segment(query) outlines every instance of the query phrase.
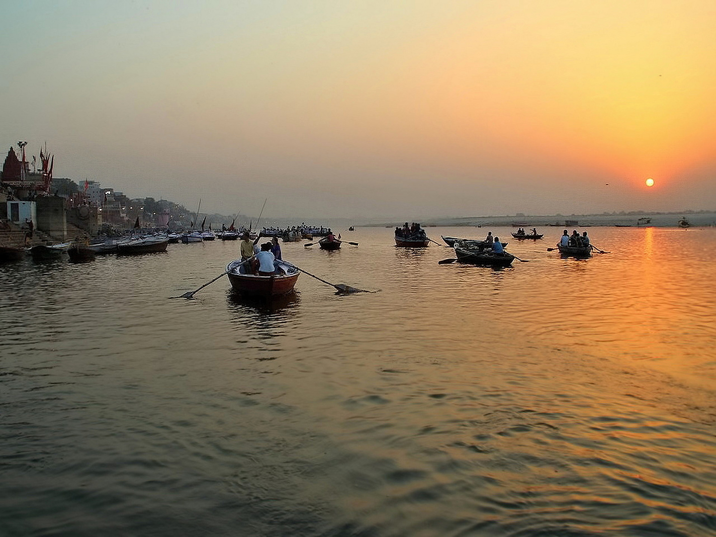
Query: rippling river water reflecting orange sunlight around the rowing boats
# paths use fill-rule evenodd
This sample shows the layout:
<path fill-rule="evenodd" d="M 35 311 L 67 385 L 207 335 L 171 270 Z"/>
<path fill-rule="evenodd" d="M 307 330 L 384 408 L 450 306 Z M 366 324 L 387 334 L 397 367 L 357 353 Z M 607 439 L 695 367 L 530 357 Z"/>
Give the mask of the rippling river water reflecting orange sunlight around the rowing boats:
<path fill-rule="evenodd" d="M 0 266 L 0 535 L 716 535 L 716 229 L 541 231 L 282 243 L 375 292 L 273 304 L 170 299 L 236 242 Z"/>

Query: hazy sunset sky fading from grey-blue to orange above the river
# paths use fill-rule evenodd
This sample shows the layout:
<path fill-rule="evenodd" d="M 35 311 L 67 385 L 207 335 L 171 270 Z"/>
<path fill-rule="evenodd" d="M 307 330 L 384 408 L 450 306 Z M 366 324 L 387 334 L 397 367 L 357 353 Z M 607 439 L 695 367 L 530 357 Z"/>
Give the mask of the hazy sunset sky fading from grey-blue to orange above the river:
<path fill-rule="evenodd" d="M 2 13 L 3 158 L 47 142 L 77 183 L 274 218 L 716 209 L 714 0 Z"/>

